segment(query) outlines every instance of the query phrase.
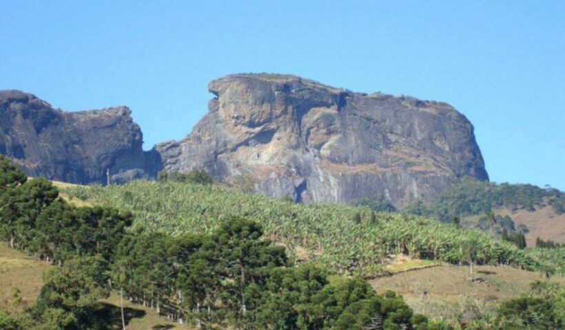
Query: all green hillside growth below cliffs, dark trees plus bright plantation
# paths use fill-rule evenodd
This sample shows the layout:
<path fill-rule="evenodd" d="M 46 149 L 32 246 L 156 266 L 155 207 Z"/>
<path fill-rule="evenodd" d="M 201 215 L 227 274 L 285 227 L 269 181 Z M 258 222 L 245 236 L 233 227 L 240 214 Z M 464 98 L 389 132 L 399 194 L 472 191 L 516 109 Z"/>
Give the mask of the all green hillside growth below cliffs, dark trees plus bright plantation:
<path fill-rule="evenodd" d="M 433 219 L 172 181 L 68 188 L 68 203 L 50 181 L 28 180 L 5 158 L 0 187 L 1 239 L 55 265 L 30 309 L 0 311 L 0 329 L 120 329 L 101 303 L 111 292 L 205 329 L 558 329 L 564 322 L 562 288 L 549 283 L 460 323 L 414 314 L 401 296 L 377 294 L 362 276 L 330 276 L 367 275 L 400 254 L 466 263 L 471 277 L 477 263 L 546 278 L 556 272 L 551 258 Z M 94 206 L 74 206 L 79 197 Z"/>

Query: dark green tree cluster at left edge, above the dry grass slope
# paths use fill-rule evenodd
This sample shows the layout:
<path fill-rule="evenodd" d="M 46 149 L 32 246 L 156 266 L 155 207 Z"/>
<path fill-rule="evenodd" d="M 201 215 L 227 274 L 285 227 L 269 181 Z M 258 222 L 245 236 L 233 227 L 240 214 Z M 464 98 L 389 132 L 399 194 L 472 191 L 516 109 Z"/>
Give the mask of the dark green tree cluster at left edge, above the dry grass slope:
<path fill-rule="evenodd" d="M 114 208 L 70 206 L 45 179 L 24 176 L 0 187 L 0 239 L 38 259 L 101 254 L 110 260 L 131 223 L 131 214 Z"/>

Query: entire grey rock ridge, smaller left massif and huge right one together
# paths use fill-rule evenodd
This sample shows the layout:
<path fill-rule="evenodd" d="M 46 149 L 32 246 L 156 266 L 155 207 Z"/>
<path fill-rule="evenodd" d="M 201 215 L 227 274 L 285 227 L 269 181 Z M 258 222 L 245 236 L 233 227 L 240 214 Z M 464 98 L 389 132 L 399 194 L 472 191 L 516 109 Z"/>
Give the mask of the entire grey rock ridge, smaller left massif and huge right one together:
<path fill-rule="evenodd" d="M 207 170 L 271 197 L 394 203 L 435 197 L 456 177 L 487 180 L 473 126 L 449 104 L 361 94 L 296 76 L 238 74 L 185 139 L 142 149 L 127 107 L 68 113 L 0 91 L 0 153 L 30 176 L 88 184 Z"/>

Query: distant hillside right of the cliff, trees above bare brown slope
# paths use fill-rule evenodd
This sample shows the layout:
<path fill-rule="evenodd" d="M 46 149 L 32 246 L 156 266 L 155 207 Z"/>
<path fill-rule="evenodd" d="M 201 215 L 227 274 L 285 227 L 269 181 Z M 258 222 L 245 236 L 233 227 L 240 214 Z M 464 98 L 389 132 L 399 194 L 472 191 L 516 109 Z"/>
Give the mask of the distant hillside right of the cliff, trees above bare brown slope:
<path fill-rule="evenodd" d="M 387 199 L 357 201 L 373 209 L 387 208 Z M 458 222 L 502 237 L 524 236 L 529 247 L 540 239 L 565 243 L 565 193 L 531 184 L 495 184 L 466 178 L 453 182 L 437 198 L 413 201 L 400 210 Z"/>

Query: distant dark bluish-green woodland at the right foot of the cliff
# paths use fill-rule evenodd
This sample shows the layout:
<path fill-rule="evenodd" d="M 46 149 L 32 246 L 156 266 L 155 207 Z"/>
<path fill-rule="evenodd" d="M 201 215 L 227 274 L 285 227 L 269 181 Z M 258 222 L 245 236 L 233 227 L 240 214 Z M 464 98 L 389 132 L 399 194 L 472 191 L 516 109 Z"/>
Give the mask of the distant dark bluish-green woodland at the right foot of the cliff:
<path fill-rule="evenodd" d="M 403 210 L 448 222 L 454 214 L 478 215 L 500 207 L 535 210 L 535 206 L 546 204 L 553 206 L 558 214 L 565 212 L 565 193 L 531 184 L 495 184 L 463 178 L 454 181 L 435 199 L 413 201 Z"/>

